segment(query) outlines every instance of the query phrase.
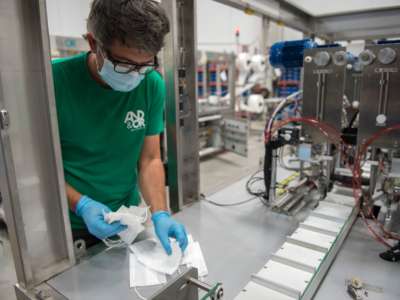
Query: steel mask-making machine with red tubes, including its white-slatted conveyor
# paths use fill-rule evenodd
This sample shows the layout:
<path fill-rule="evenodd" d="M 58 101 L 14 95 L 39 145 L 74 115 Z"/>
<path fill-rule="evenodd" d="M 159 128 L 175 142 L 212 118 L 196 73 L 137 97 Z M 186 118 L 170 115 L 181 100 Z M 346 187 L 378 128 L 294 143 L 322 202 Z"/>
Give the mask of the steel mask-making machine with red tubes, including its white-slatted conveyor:
<path fill-rule="evenodd" d="M 310 216 L 266 263 L 266 270 L 252 276 L 251 289 L 258 284 L 295 299 L 311 299 L 315 278 L 325 276 L 358 214 L 372 238 L 388 248 L 380 257 L 400 260 L 399 50 L 395 41 L 367 44 L 358 60 L 337 44 L 298 51 L 303 52 L 303 91 L 286 97 L 266 124 L 262 197 L 277 212 L 296 215 L 307 208 Z M 298 114 L 277 121 L 278 113 L 293 103 L 299 106 Z M 291 148 L 289 163 L 284 162 L 289 155 L 282 151 L 286 146 Z M 278 162 L 299 175 L 289 184 L 278 182 Z M 332 221 L 329 226 L 327 220 Z M 336 232 L 335 226 L 340 228 Z M 334 240 L 324 246 L 323 240 L 332 236 Z M 303 258 L 285 250 L 293 244 L 299 252 L 324 253 L 310 270 L 313 280 L 301 273 Z M 284 283 L 284 270 L 286 276 L 307 284 Z"/>

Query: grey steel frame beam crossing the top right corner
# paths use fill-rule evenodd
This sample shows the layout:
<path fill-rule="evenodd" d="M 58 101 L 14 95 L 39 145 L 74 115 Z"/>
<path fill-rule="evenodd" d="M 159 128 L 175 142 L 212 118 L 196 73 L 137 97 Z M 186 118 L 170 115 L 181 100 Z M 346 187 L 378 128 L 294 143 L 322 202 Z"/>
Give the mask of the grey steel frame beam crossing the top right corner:
<path fill-rule="evenodd" d="M 214 0 L 329 40 L 400 37 L 400 6 L 313 17 L 285 0 Z"/>

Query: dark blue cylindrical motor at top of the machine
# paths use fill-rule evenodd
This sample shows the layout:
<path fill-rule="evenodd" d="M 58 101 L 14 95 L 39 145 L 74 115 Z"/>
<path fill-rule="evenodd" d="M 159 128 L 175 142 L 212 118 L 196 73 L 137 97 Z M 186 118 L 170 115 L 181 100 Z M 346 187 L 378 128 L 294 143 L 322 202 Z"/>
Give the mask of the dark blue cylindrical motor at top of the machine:
<path fill-rule="evenodd" d="M 269 62 L 275 68 L 299 68 L 303 66 L 304 50 L 315 47 L 311 39 L 278 42 L 269 51 Z"/>

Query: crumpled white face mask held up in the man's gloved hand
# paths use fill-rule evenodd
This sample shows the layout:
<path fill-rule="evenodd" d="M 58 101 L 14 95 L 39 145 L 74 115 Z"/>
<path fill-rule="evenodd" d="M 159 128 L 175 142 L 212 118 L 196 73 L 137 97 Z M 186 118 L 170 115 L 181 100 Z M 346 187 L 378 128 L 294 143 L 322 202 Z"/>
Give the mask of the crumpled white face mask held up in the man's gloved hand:
<path fill-rule="evenodd" d="M 148 211 L 148 207 L 130 206 L 127 208 L 126 206 L 121 206 L 116 212 L 105 214 L 104 220 L 108 224 L 120 221 L 121 224 L 128 226 L 128 228 L 118 234 L 121 240 L 105 239 L 103 242 L 109 247 L 132 244 L 138 234 L 145 229 L 143 223 L 148 219 Z"/>

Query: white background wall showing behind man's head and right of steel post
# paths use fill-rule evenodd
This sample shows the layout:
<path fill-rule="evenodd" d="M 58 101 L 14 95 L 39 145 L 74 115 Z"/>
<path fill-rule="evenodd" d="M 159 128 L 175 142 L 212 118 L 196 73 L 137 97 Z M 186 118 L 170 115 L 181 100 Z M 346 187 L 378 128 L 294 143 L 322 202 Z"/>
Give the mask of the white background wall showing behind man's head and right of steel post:
<path fill-rule="evenodd" d="M 81 37 L 86 33 L 86 19 L 91 0 L 47 0 L 50 35 Z M 261 18 L 219 4 L 213 0 L 197 1 L 198 47 L 200 50 L 236 51 L 236 28 L 240 43 L 260 50 Z M 301 39 L 298 31 L 271 23 L 269 43 L 286 39 Z"/>

